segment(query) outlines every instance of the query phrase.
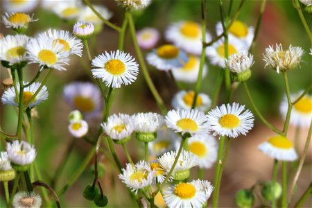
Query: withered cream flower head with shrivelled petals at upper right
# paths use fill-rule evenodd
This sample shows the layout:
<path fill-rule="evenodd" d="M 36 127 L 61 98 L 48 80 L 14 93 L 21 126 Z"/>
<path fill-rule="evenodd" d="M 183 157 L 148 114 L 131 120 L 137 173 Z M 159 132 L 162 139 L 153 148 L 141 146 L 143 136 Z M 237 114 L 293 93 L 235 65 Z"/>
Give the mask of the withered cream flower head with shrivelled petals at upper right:
<path fill-rule="evenodd" d="M 300 47 L 289 46 L 289 49 L 284 51 L 281 44 L 268 46 L 266 53 L 263 54 L 263 60 L 266 62 L 266 67 L 269 66 L 277 73 L 279 71 L 286 72 L 295 69 L 300 64 L 304 51 Z"/>

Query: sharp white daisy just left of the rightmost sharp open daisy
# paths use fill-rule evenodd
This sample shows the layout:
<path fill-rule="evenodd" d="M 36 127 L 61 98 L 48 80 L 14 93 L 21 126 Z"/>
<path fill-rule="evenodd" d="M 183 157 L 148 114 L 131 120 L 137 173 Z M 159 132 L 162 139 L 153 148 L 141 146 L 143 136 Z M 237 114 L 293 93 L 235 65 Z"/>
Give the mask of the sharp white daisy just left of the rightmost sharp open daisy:
<path fill-rule="evenodd" d="M 207 135 L 210 129 L 207 117 L 198 110 L 170 110 L 165 121 L 168 128 L 182 135 Z"/>

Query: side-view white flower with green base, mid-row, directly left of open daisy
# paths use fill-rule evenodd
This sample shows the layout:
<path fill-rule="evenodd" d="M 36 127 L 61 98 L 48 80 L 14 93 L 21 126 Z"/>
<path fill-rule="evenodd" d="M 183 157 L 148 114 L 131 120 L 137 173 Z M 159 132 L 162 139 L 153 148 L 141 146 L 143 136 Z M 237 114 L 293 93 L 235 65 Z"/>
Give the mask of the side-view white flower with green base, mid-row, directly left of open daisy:
<path fill-rule="evenodd" d="M 164 125 L 164 116 L 152 112 L 135 114 L 132 119 L 137 139 L 144 142 L 156 139 L 157 130 Z"/>

